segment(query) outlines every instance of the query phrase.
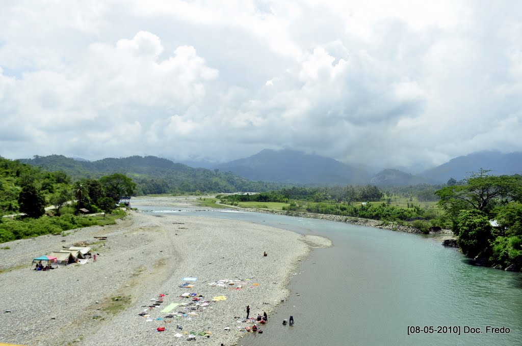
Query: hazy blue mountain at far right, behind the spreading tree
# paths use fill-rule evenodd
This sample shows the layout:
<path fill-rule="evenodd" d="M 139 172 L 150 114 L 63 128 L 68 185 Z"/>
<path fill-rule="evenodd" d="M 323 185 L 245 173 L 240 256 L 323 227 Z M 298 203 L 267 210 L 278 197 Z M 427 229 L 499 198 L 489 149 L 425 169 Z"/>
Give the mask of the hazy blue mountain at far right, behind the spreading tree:
<path fill-rule="evenodd" d="M 470 172 L 479 169 L 492 170 L 493 175 L 522 174 L 522 153 L 502 154 L 497 151 L 483 151 L 455 157 L 449 162 L 423 171 L 420 176 L 433 183 L 445 183 L 449 178 L 462 180 Z"/>

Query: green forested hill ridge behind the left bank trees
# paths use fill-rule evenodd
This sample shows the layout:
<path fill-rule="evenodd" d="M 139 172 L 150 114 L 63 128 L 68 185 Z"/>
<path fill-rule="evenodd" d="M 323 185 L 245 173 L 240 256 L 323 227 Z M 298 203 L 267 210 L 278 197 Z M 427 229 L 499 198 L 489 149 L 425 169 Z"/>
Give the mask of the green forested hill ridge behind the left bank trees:
<path fill-rule="evenodd" d="M 74 180 L 122 173 L 137 183 L 138 194 L 198 190 L 201 192 L 268 191 L 282 187 L 282 184 L 277 183 L 250 181 L 231 172 L 192 168 L 156 156 L 104 158 L 88 162 L 63 155 L 50 155 L 19 161 L 45 170 L 63 170 Z"/>

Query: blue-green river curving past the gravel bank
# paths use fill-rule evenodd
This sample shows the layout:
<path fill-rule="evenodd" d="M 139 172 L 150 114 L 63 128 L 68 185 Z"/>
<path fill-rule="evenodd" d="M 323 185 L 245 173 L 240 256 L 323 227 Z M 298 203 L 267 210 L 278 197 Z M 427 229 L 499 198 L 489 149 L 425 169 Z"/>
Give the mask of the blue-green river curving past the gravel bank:
<path fill-rule="evenodd" d="M 522 275 L 472 266 L 436 236 L 222 209 L 133 206 L 333 241 L 294 273 L 292 293 L 270 315 L 264 333 L 239 345 L 522 345 Z M 295 325 L 283 326 L 290 315 Z"/>

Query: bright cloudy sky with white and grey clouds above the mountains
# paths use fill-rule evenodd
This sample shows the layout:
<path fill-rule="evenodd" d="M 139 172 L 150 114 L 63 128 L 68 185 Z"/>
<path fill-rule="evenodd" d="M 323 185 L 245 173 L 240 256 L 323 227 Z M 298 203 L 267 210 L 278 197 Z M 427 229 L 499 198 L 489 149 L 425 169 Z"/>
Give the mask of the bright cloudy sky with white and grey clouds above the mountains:
<path fill-rule="evenodd" d="M 0 156 L 522 151 L 522 2 L 3 0 Z"/>

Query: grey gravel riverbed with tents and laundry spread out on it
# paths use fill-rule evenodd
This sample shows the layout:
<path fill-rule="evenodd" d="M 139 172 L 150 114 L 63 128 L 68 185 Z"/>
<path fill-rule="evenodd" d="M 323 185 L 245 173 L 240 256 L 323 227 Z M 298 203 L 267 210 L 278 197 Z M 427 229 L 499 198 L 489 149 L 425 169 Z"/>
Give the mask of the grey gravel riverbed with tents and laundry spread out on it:
<path fill-rule="evenodd" d="M 31 270 L 33 257 L 79 242 L 99 254 L 97 262 Z M 270 323 L 298 262 L 331 242 L 242 221 L 132 211 L 117 225 L 3 245 L 9 249 L 0 250 L 0 268 L 8 269 L 0 274 L 0 342 L 175 345 L 195 338 L 192 343 L 233 345 L 252 325 L 243 322 L 246 305 L 250 316 L 266 311 Z M 179 287 L 184 282 L 194 287 Z M 180 298 L 183 293 L 200 300 Z M 163 301 L 150 308 L 160 294 Z M 213 300 L 220 296 L 226 300 Z M 165 318 L 161 310 L 172 303 L 182 305 Z"/>

